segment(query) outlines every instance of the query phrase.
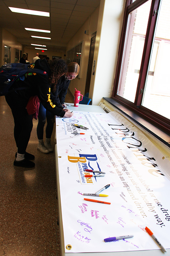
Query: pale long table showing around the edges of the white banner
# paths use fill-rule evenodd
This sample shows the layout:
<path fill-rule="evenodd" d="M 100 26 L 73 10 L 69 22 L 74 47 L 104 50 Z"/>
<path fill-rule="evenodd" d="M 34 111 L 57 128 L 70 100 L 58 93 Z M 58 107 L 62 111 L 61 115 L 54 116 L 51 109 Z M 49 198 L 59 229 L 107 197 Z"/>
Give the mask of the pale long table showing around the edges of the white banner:
<path fill-rule="evenodd" d="M 73 104 L 71 104 L 71 106 L 68 106 L 68 108 L 70 110 L 79 111 L 79 112 L 85 111 L 85 112 L 94 112 L 94 113 L 105 113 L 102 108 L 100 108 L 99 106 L 93 106 L 93 105 L 90 106 L 90 105 L 82 105 L 81 104 L 78 107 L 73 107 Z M 57 131 L 57 129 L 56 129 L 56 131 Z M 67 143 L 67 142 L 65 140 L 63 140 L 63 143 Z M 59 175 L 60 174 L 59 174 L 59 163 L 58 163 L 59 158 L 58 157 L 61 157 L 61 156 L 58 155 L 57 144 L 56 144 L 55 145 L 56 182 L 57 182 L 57 197 L 58 197 L 58 211 L 59 211 L 60 247 L 61 247 L 61 255 L 62 256 L 66 256 L 66 254 L 68 254 L 68 253 L 70 255 L 74 254 L 74 256 L 85 256 L 85 255 L 87 255 L 87 253 L 90 256 L 95 256 L 95 255 L 110 256 L 110 255 L 113 255 L 113 253 L 114 253 L 115 256 L 129 256 L 129 253 L 132 256 L 136 256 L 136 255 L 139 255 L 139 256 L 143 256 L 143 255 L 145 255 L 145 256 L 150 256 L 150 255 L 159 256 L 159 255 L 162 255 L 162 253 L 163 253 L 162 250 L 158 250 L 158 249 L 155 249 L 155 250 L 141 250 L 141 251 L 133 250 L 133 251 L 130 251 L 130 252 L 129 251 L 123 251 L 123 252 L 76 252 L 76 253 L 72 253 L 71 250 L 70 251 L 68 250 L 68 253 L 65 252 L 63 220 L 62 220 L 61 189 L 60 189 L 61 184 L 59 182 L 59 180 L 60 180 Z M 98 179 L 101 179 L 101 178 L 98 178 Z M 94 199 L 96 199 L 96 198 L 94 198 Z M 69 227 L 68 227 L 68 229 L 69 229 Z M 128 235 L 128 234 L 123 233 L 122 235 Z M 149 241 L 150 241 L 150 239 L 152 240 L 151 237 L 148 237 L 148 239 L 149 239 Z M 158 237 L 158 239 L 159 239 L 159 237 Z M 106 243 L 106 244 L 108 244 L 108 243 Z M 162 244 L 163 244 L 163 241 L 162 241 Z M 170 255 L 170 249 L 167 249 L 166 255 Z"/>

